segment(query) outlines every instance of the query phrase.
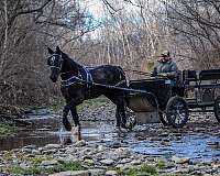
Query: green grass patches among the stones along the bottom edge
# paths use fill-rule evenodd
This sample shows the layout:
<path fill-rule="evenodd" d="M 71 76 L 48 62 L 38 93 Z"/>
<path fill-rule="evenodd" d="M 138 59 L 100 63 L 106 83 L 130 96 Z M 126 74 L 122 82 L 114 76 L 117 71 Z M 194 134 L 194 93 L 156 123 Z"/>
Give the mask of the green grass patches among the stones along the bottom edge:
<path fill-rule="evenodd" d="M 14 160 L 12 157 L 12 153 L 8 153 L 4 155 L 4 160 L 10 161 Z M 52 157 L 48 156 L 42 156 L 42 157 L 25 157 L 25 156 L 20 156 L 19 161 L 25 160 L 26 163 L 29 163 L 28 167 L 21 167 L 19 164 L 12 164 L 8 167 L 0 168 L 2 173 L 8 173 L 10 175 L 48 175 L 53 173 L 58 173 L 58 172 L 66 172 L 66 170 L 85 170 L 89 169 L 88 166 L 85 167 L 84 163 L 80 162 L 55 162 L 53 166 L 50 167 L 43 167 L 43 163 L 45 161 L 47 163 L 53 162 Z M 165 168 L 165 162 L 160 161 L 156 165 L 151 165 L 151 164 L 142 164 L 141 166 L 134 166 L 132 168 L 112 168 L 109 167 L 107 170 L 114 170 L 117 172 L 117 175 L 119 176 L 138 176 L 138 175 L 152 175 L 152 176 L 169 176 L 167 174 L 163 174 L 163 168 Z M 91 167 L 92 168 L 92 167 Z"/>

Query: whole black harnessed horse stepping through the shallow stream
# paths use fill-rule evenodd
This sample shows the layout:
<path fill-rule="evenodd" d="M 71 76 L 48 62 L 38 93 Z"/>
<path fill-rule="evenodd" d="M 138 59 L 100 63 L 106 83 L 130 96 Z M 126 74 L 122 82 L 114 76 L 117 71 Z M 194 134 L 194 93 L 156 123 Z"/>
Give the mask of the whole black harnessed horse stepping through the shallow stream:
<path fill-rule="evenodd" d="M 76 106 L 82 103 L 86 99 L 94 99 L 101 95 L 105 95 L 117 106 L 117 127 L 119 129 L 127 128 L 124 91 L 102 86 L 127 87 L 125 74 L 121 67 L 102 65 L 88 69 L 72 59 L 58 46 L 55 52 L 48 48 L 48 53 L 51 54 L 47 59 L 47 65 L 51 67 L 51 79 L 56 82 L 59 75 L 62 79 L 61 90 L 66 99 L 66 106 L 63 110 L 63 124 L 66 130 L 72 130 L 67 119 L 69 110 L 75 123 L 74 133 L 78 134 L 80 125 Z"/>

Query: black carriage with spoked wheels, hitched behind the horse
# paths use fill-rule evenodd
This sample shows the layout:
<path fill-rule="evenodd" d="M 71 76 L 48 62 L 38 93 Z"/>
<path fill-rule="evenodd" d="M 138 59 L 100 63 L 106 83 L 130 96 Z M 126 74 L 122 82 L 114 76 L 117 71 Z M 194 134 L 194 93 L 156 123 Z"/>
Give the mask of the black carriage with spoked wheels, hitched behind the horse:
<path fill-rule="evenodd" d="M 127 105 L 134 112 L 154 111 L 163 124 L 182 128 L 189 112 L 215 112 L 220 122 L 220 69 L 183 70 L 177 85 L 167 78 L 131 80 Z"/>

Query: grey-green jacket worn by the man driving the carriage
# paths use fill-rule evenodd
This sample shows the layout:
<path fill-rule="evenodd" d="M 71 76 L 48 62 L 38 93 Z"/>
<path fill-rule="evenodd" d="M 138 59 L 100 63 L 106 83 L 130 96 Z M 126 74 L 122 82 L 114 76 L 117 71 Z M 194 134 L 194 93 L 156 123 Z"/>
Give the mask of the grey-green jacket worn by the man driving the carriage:
<path fill-rule="evenodd" d="M 176 63 L 168 61 L 166 63 L 160 62 L 160 64 L 154 68 L 153 76 L 157 74 L 167 74 L 168 78 L 176 78 L 178 75 L 178 68 Z"/>

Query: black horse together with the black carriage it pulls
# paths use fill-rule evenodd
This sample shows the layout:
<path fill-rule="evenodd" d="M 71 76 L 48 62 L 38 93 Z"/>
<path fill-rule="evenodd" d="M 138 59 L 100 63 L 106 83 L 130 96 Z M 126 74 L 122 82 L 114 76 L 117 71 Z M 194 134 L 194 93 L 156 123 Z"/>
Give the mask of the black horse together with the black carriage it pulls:
<path fill-rule="evenodd" d="M 136 114 L 142 113 L 142 119 L 147 118 L 144 114 L 154 112 L 164 124 L 169 123 L 174 128 L 183 127 L 191 110 L 213 111 L 220 122 L 220 97 L 217 96 L 220 88 L 220 69 L 184 70 L 179 74 L 175 87 L 169 79 L 157 77 L 130 80 L 127 85 L 125 73 L 120 66 L 86 68 L 58 46 L 55 52 L 48 48 L 48 53 L 50 77 L 54 82 L 59 75 L 62 79 L 62 94 L 67 102 L 63 110 L 63 123 L 67 130 L 72 130 L 68 112 L 72 112 L 75 127 L 79 129 L 76 106 L 101 95 L 117 106 L 117 127 L 127 128 L 124 106 Z"/>

